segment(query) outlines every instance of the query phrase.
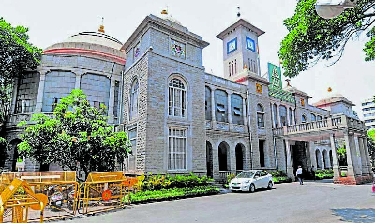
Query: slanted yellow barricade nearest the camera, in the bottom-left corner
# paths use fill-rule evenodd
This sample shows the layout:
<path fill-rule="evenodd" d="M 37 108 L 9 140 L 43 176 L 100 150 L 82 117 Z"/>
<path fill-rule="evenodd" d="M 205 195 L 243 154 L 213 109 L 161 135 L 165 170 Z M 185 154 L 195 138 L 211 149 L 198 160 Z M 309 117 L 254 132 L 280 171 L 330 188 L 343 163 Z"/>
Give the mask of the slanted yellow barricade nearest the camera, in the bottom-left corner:
<path fill-rule="evenodd" d="M 44 207 L 48 198 L 36 194 L 25 180 L 15 178 L 0 195 L 0 223 L 24 223 L 32 211 L 39 212 L 38 222 L 43 222 Z"/>

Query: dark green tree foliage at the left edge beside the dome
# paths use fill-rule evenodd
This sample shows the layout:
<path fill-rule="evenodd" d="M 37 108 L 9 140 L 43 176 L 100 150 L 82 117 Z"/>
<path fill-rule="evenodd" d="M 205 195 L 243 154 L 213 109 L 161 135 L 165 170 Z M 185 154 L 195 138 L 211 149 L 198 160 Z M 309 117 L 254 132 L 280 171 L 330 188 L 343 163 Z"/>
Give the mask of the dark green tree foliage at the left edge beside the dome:
<path fill-rule="evenodd" d="M 25 69 L 36 69 L 42 49 L 28 42 L 28 28 L 12 27 L 0 18 L 0 100 L 7 100 L 6 87 Z"/>

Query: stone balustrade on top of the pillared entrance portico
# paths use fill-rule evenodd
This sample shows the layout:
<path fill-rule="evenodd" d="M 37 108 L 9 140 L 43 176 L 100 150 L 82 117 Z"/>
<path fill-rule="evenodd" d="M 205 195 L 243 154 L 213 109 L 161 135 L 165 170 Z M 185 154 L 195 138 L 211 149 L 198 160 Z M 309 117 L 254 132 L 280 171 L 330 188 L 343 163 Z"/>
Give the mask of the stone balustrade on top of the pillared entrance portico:
<path fill-rule="evenodd" d="M 273 129 L 273 134 L 276 136 L 292 135 L 296 133 L 336 129 L 340 127 L 351 127 L 366 131 L 365 123 L 363 121 L 341 115 L 339 117 L 276 128 Z"/>

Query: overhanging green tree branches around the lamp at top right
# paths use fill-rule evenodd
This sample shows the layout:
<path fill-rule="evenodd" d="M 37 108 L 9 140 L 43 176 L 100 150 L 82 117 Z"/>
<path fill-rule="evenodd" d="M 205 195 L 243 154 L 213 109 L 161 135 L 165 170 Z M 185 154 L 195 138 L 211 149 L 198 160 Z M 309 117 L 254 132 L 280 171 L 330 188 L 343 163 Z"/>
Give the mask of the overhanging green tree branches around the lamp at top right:
<path fill-rule="evenodd" d="M 284 20 L 289 33 L 281 42 L 279 58 L 285 76 L 293 77 L 321 59 L 335 57 L 336 63 L 349 40 L 363 31 L 369 38 L 363 51 L 366 61 L 375 59 L 375 0 L 358 0 L 358 6 L 333 19 L 323 19 L 315 11 L 316 0 L 298 0 L 295 13 Z"/>

